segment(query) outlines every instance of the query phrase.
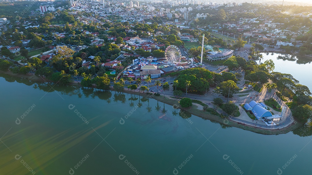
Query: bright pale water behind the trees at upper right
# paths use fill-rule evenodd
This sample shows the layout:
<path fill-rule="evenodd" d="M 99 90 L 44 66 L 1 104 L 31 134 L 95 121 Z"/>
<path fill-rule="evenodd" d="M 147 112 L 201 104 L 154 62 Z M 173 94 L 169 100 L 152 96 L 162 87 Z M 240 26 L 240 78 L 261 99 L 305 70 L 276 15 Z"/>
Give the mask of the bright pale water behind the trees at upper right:
<path fill-rule="evenodd" d="M 289 73 L 293 75 L 300 84 L 303 84 L 312 90 L 312 81 L 310 78 L 307 78 L 312 75 L 312 59 L 297 59 L 297 57 L 289 54 L 278 53 L 269 53 L 268 55 L 262 53 L 262 55 L 264 58 L 261 60 L 262 63 L 268 59 L 272 59 L 275 64 L 275 72 Z M 259 61 L 257 61 L 257 63 L 259 63 Z"/>

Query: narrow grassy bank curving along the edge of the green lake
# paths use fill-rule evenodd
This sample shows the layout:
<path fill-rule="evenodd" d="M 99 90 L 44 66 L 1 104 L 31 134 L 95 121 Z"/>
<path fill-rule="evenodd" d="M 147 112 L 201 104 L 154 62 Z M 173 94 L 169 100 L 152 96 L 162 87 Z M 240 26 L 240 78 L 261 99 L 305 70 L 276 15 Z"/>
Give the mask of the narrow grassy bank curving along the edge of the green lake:
<path fill-rule="evenodd" d="M 30 81 L 37 81 L 37 82 L 50 82 L 51 81 L 47 81 L 44 78 L 41 77 L 37 77 L 35 75 L 21 75 L 21 74 L 14 74 L 12 72 L 2 72 L 0 71 L 0 73 L 6 74 L 6 75 L 10 75 L 13 77 L 20 77 L 20 78 L 27 78 Z M 52 82 L 53 83 L 53 82 Z M 73 86 L 80 86 L 80 84 L 78 83 L 68 83 L 68 85 L 73 85 Z M 80 86 L 81 87 L 81 86 Z M 92 86 L 93 88 L 96 88 L 94 86 Z M 115 91 L 112 87 L 110 87 L 110 91 Z M 171 106 L 177 106 L 175 109 L 181 109 L 183 111 L 187 111 L 189 113 L 191 113 L 194 116 L 206 119 L 206 120 L 210 120 L 212 122 L 218 122 L 221 127 L 236 127 L 236 128 L 240 128 L 243 130 L 248 130 L 251 132 L 255 132 L 258 134 L 263 134 L 263 135 L 278 135 L 278 134 L 286 134 L 292 130 L 295 130 L 297 128 L 299 128 L 300 126 L 302 126 L 302 124 L 298 123 L 298 122 L 293 122 L 292 124 L 288 125 L 287 127 L 283 128 L 283 129 L 264 129 L 264 128 L 258 128 L 258 127 L 254 127 L 254 126 L 250 126 L 250 125 L 245 125 L 245 124 L 240 124 L 239 122 L 236 121 L 232 121 L 229 120 L 228 118 L 222 118 L 220 116 L 215 116 L 212 115 L 211 113 L 207 112 L 207 111 L 202 111 L 202 110 L 198 110 L 198 106 L 193 105 L 190 108 L 182 108 L 180 107 L 178 100 L 173 100 L 170 99 L 168 97 L 163 97 L 162 95 L 160 96 L 153 96 L 150 94 L 146 94 L 146 93 L 142 93 L 142 92 L 138 92 L 138 91 L 130 91 L 125 89 L 124 93 L 128 93 L 128 94 L 134 94 L 134 95 L 140 95 L 142 97 L 147 97 L 147 98 L 153 98 L 159 102 L 163 102 L 166 103 L 168 105 Z"/>

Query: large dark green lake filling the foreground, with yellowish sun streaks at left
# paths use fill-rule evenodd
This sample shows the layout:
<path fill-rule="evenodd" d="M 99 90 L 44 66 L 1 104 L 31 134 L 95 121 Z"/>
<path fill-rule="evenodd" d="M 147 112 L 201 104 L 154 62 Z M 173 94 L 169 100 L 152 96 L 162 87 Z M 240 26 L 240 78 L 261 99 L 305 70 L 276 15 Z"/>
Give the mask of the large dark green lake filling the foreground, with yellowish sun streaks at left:
<path fill-rule="evenodd" d="M 154 99 L 3 74 L 0 90 L 0 174 L 312 171 L 310 128 L 261 135 L 179 112 Z"/>

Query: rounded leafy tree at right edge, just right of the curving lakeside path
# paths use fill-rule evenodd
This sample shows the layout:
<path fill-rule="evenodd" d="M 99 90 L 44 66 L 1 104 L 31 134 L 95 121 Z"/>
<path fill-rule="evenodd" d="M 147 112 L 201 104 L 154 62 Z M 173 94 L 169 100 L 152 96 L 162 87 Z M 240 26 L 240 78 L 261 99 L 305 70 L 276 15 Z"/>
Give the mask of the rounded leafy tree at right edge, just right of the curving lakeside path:
<path fill-rule="evenodd" d="M 309 105 L 300 105 L 293 111 L 293 116 L 301 123 L 306 123 L 312 118 L 312 107 Z"/>

